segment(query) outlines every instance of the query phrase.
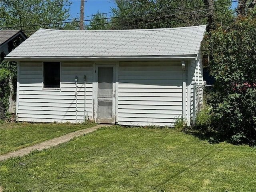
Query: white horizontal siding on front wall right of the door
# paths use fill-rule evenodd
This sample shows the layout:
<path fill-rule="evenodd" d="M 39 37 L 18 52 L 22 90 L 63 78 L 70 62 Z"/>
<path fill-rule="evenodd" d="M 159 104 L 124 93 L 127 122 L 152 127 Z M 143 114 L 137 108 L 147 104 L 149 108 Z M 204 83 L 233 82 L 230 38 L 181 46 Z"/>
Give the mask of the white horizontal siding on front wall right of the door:
<path fill-rule="evenodd" d="M 118 124 L 173 126 L 182 115 L 180 62 L 120 62 Z"/>

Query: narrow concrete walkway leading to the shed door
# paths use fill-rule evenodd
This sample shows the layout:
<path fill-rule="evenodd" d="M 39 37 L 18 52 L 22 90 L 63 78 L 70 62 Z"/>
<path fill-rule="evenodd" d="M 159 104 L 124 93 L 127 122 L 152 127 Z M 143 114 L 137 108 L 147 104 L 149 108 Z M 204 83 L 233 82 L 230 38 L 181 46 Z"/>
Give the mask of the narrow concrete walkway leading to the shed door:
<path fill-rule="evenodd" d="M 57 138 L 53 138 L 53 139 L 44 141 L 42 143 L 35 144 L 33 146 L 29 146 L 29 147 L 22 148 L 20 150 L 14 151 L 14 152 L 3 154 L 3 155 L 0 155 L 0 161 L 8 159 L 10 157 L 24 156 L 24 155 L 29 154 L 30 152 L 32 152 L 34 150 L 39 150 L 40 151 L 40 150 L 43 150 L 43 149 L 47 149 L 47 148 L 50 148 L 52 146 L 56 146 L 56 145 L 64 143 L 64 142 L 68 142 L 70 139 L 72 139 L 74 137 L 78 137 L 80 135 L 84 135 L 84 134 L 93 132 L 94 130 L 96 130 L 100 127 L 106 127 L 106 126 L 111 126 L 111 125 L 101 124 L 101 125 L 86 128 L 86 129 L 83 129 L 83 130 L 78 130 L 78 131 L 71 132 L 71 133 L 68 133 L 66 135 L 57 137 Z M 0 192 L 1 192 L 1 188 L 0 188 Z"/>

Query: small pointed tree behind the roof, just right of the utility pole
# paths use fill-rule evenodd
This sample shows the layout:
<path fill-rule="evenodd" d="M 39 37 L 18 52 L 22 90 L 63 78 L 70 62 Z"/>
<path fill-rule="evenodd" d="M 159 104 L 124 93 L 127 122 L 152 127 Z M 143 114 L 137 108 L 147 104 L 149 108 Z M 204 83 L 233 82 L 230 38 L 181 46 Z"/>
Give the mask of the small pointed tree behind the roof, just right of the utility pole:
<path fill-rule="evenodd" d="M 98 11 L 93 17 L 92 21 L 88 26 L 85 26 L 86 30 L 106 30 L 110 29 L 111 25 L 108 23 L 108 19 L 106 19 L 105 14 L 101 14 Z"/>

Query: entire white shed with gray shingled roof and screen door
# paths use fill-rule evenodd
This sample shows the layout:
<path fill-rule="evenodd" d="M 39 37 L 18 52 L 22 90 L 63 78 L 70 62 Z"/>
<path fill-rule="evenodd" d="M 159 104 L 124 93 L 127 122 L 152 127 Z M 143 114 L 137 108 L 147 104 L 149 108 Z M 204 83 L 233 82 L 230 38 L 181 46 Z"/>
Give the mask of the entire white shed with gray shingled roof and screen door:
<path fill-rule="evenodd" d="M 190 125 L 202 103 L 205 31 L 39 29 L 6 57 L 18 63 L 16 119 Z"/>

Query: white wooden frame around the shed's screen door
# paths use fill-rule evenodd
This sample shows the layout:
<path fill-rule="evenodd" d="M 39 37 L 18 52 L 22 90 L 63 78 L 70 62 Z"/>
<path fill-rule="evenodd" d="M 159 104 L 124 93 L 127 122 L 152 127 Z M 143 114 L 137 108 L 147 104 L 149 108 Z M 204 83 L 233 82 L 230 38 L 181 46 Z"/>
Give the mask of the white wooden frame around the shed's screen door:
<path fill-rule="evenodd" d="M 92 118 L 95 122 L 97 122 L 97 114 L 98 114 L 98 68 L 99 67 L 113 67 L 113 90 L 112 90 L 112 122 L 107 122 L 110 124 L 114 124 L 117 122 L 117 77 L 118 77 L 118 65 L 116 62 L 94 62 L 93 64 L 93 83 L 92 83 L 92 89 L 93 89 L 93 113 Z"/>

